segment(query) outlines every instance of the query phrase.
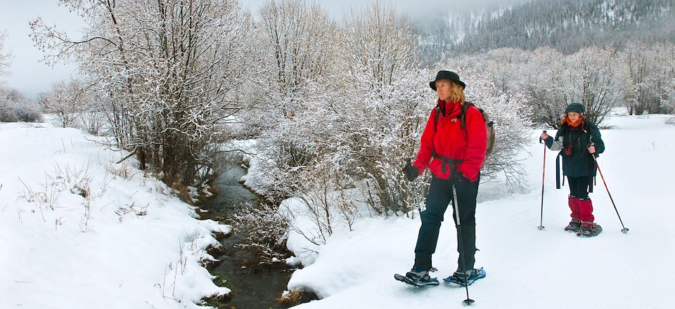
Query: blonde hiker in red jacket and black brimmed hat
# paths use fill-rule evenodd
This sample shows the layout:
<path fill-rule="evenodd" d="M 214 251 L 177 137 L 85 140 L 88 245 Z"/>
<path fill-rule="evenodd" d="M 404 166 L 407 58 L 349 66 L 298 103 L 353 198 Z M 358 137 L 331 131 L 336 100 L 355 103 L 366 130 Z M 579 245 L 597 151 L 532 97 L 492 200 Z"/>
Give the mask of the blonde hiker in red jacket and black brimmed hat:
<path fill-rule="evenodd" d="M 487 149 L 487 127 L 482 113 L 473 105 L 465 112 L 465 127 L 462 128 L 461 113 L 465 104 L 465 84 L 459 75 L 439 71 L 429 86 L 437 91 L 438 100 L 432 110 L 420 141 L 420 150 L 414 164 L 404 167 L 407 178 L 413 181 L 425 169 L 432 173 L 431 185 L 426 198 L 426 209 L 421 212 L 420 227 L 415 247 L 415 263 L 406 277 L 418 282 L 437 280 L 429 276 L 432 270 L 432 254 L 436 251 L 439 229 L 444 213 L 453 202 L 453 186 L 456 189 L 460 214 L 461 234 L 458 232 L 458 268 L 456 280 L 475 280 L 485 273 L 474 268 L 476 240 L 476 197 L 480 181 L 480 169 Z M 453 209 L 453 219 L 456 221 Z M 459 241 L 462 237 L 463 242 Z M 463 243 L 463 247 L 460 246 Z M 451 277 L 453 277 L 451 276 Z M 451 277 L 448 277 L 451 278 Z"/>

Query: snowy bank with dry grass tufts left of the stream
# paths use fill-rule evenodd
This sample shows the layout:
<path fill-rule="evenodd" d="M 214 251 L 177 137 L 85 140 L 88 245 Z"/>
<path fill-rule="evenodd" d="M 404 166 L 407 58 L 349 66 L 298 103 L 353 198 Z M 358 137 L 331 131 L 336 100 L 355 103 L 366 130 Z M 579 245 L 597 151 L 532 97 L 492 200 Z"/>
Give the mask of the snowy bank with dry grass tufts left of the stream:
<path fill-rule="evenodd" d="M 0 124 L 0 308 L 197 308 L 212 231 L 76 129 Z"/>

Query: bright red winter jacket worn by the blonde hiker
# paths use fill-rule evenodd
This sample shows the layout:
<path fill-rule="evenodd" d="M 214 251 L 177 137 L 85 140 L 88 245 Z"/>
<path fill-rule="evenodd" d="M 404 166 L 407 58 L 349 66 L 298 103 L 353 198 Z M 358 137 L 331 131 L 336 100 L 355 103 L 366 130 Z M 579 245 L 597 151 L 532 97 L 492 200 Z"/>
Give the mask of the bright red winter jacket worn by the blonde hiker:
<path fill-rule="evenodd" d="M 487 150 L 487 127 L 483 115 L 476 107 L 470 106 L 466 110 L 466 127 L 462 129 L 459 119 L 461 105 L 448 103 L 446 106 L 443 100 L 438 100 L 438 106 L 440 109 L 434 108 L 427 120 L 427 126 L 422 133 L 420 151 L 413 165 L 419 169 L 420 174 L 428 167 L 436 177 L 448 179 L 450 177 L 448 166 L 442 169 L 442 160 L 432 157 L 435 147 L 436 153 L 442 157 L 463 160 L 457 164 L 457 170 L 474 182 L 478 179 Z M 445 110 L 445 114 L 439 114 L 435 129 L 434 119 L 437 110 Z"/>

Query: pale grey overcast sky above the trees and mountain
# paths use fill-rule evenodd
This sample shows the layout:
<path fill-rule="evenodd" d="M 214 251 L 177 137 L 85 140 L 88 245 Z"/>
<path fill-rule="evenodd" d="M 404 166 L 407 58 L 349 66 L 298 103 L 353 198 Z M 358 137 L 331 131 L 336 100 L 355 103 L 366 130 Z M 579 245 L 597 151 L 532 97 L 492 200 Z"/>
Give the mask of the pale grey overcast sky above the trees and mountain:
<path fill-rule="evenodd" d="M 146 1 L 146 0 L 139 0 Z M 266 0 L 240 0 L 240 3 L 251 11 L 257 11 Z M 369 2 L 366 0 L 317 0 L 335 19 L 342 17 L 342 12 L 349 8 L 360 8 Z M 454 7 L 487 6 L 488 4 L 505 4 L 507 2 L 524 2 L 526 0 L 392 0 L 397 11 L 413 15 L 423 14 L 430 10 Z M 57 64 L 49 67 L 40 63 L 42 53 L 33 46 L 28 37 L 28 22 L 41 17 L 48 25 L 56 24 L 68 32 L 70 37 L 79 38 L 82 21 L 74 13 L 58 6 L 58 0 L 0 0 L 0 31 L 8 34 L 5 45 L 13 53 L 8 77 L 0 77 L 10 86 L 17 88 L 29 97 L 42 91 L 49 91 L 55 81 L 69 79 L 75 74 L 75 65 Z"/>

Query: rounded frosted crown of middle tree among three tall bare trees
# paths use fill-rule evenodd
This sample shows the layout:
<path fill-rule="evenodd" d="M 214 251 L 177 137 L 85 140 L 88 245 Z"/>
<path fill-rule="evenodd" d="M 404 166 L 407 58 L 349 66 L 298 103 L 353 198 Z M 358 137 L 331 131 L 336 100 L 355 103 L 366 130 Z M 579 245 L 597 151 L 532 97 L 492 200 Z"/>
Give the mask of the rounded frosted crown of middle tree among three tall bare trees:
<path fill-rule="evenodd" d="M 331 74 L 337 26 L 314 2 L 268 0 L 255 29 L 264 67 L 260 80 L 274 100 L 269 106 L 278 117 L 292 118 L 307 82 Z"/>

